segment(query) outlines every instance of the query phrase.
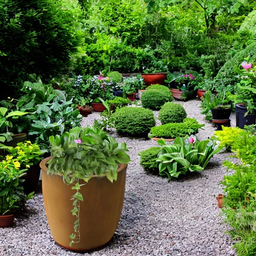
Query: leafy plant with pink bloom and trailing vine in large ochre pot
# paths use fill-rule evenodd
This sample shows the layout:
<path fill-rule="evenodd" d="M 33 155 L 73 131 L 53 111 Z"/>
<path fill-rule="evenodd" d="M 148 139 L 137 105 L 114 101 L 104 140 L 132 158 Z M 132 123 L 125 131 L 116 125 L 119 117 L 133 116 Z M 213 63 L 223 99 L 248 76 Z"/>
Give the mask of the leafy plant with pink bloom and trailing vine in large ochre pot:
<path fill-rule="evenodd" d="M 61 143 L 61 140 L 63 144 Z M 50 137 L 52 143 L 52 159 L 48 161 L 47 174 L 59 174 L 63 182 L 73 184 L 75 194 L 72 196 L 74 209 L 72 214 L 77 217 L 74 233 L 70 235 L 72 243 L 80 241 L 79 208 L 83 196 L 79 192 L 79 180 L 88 182 L 93 174 L 103 175 L 113 182 L 117 180 L 119 163 L 128 163 L 129 156 L 126 144 L 118 145 L 116 140 L 96 127 L 76 127 L 63 134 L 62 138 Z"/>

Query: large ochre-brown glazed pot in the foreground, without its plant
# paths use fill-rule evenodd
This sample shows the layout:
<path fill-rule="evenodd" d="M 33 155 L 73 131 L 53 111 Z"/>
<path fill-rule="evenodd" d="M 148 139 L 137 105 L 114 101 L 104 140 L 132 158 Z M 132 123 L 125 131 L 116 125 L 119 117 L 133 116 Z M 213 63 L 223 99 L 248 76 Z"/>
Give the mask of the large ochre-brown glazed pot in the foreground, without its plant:
<path fill-rule="evenodd" d="M 42 189 L 44 205 L 49 227 L 54 240 L 61 246 L 74 251 L 96 249 L 108 243 L 114 235 L 121 216 L 127 164 L 120 164 L 117 181 L 111 183 L 106 175 L 93 177 L 88 183 L 79 181 L 80 193 L 84 201 L 80 202 L 80 242 L 69 246 L 70 234 L 74 233 L 76 217 L 72 215 L 73 205 L 70 199 L 75 194 L 72 186 L 63 183 L 60 175 L 47 175 L 46 162 L 41 161 Z"/>

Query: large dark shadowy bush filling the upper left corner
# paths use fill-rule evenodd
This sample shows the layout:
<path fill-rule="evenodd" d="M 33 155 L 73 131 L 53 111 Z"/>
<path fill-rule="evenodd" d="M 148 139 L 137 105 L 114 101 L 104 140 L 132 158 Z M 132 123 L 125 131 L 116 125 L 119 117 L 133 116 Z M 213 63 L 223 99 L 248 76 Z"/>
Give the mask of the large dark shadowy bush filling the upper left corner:
<path fill-rule="evenodd" d="M 78 1 L 2 1 L 0 13 L 1 98 L 13 96 L 30 73 L 48 78 L 66 69 L 83 41 Z"/>

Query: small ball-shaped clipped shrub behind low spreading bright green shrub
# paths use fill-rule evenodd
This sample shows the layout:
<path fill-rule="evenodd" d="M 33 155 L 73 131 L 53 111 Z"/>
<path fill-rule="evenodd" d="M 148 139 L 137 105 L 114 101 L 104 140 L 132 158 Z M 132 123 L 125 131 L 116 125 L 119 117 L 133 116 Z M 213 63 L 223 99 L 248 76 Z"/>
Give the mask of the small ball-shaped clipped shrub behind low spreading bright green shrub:
<path fill-rule="evenodd" d="M 158 119 L 162 125 L 169 123 L 182 123 L 187 113 L 181 104 L 166 102 L 159 111 Z"/>

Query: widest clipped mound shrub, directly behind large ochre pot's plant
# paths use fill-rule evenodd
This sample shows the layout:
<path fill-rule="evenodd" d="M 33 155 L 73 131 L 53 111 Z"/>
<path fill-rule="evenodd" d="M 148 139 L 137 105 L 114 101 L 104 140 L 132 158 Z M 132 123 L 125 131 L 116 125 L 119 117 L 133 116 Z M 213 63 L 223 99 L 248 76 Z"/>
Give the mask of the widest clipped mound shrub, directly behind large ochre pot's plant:
<path fill-rule="evenodd" d="M 118 109 L 113 117 L 116 131 L 127 136 L 147 136 L 150 129 L 156 125 L 153 112 L 144 108 L 126 106 Z"/>

